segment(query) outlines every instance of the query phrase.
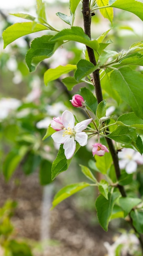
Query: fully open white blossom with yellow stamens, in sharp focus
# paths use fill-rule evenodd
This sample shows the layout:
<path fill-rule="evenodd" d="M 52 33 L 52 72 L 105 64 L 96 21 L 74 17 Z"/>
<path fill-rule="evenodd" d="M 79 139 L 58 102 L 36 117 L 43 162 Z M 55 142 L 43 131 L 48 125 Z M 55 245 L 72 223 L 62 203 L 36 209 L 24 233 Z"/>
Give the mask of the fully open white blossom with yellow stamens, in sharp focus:
<path fill-rule="evenodd" d="M 87 128 L 91 123 L 92 118 L 86 119 L 74 126 L 74 115 L 68 110 L 65 110 L 62 114 L 61 120 L 64 128 L 53 133 L 51 137 L 54 142 L 64 144 L 63 148 L 65 149 L 65 157 L 70 159 L 76 150 L 76 141 L 78 141 L 80 146 L 85 146 L 87 144 L 88 135 L 85 132 L 82 132 L 82 130 Z"/>

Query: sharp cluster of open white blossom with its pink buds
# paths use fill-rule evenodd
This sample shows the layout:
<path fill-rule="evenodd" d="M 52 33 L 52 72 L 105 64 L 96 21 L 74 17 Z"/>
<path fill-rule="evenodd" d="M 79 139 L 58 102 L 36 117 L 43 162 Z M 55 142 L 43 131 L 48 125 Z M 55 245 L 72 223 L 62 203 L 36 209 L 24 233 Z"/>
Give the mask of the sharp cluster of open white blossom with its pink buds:
<path fill-rule="evenodd" d="M 85 101 L 81 95 L 75 94 L 70 101 L 74 107 L 84 108 L 87 112 Z M 89 115 L 89 117 L 91 116 Z M 89 118 L 75 125 L 74 115 L 68 110 L 65 110 L 61 117 L 54 117 L 51 121 L 51 127 L 56 130 L 51 137 L 54 142 L 63 144 L 65 157 L 67 159 L 73 157 L 76 150 L 76 141 L 80 144 L 80 146 L 87 145 L 88 135 L 84 130 L 91 123 L 91 121 L 93 121 L 93 119 Z M 103 156 L 106 152 L 109 152 L 106 146 L 100 143 L 93 144 L 93 156 Z"/>

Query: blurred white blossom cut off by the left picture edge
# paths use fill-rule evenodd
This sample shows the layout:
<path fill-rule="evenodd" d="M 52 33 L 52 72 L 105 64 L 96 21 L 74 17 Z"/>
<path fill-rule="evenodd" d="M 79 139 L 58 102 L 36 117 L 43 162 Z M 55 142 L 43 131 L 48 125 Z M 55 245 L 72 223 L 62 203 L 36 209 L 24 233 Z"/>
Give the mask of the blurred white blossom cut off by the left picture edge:
<path fill-rule="evenodd" d="M 14 98 L 2 98 L 0 100 L 0 119 L 6 118 L 12 110 L 17 109 L 21 101 Z"/>

